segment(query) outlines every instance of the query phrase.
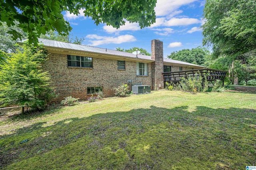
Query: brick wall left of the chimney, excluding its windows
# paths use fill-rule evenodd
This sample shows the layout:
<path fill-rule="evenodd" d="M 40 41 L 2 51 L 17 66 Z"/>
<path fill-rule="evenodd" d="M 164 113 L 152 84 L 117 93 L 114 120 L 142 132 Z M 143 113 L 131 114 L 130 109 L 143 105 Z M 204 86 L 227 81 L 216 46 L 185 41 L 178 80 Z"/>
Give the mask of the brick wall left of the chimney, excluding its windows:
<path fill-rule="evenodd" d="M 67 96 L 86 100 L 87 87 L 98 86 L 103 87 L 106 97 L 111 97 L 114 96 L 112 88 L 127 83 L 129 79 L 133 83 L 141 81 L 143 85 L 152 85 L 151 63 L 148 63 L 146 77 L 136 75 L 136 62 L 126 61 L 125 64 L 126 70 L 120 71 L 117 69 L 117 60 L 92 57 L 92 69 L 68 67 L 66 54 L 51 53 L 42 68 L 52 76 L 51 85 L 60 94 L 57 101 Z"/>

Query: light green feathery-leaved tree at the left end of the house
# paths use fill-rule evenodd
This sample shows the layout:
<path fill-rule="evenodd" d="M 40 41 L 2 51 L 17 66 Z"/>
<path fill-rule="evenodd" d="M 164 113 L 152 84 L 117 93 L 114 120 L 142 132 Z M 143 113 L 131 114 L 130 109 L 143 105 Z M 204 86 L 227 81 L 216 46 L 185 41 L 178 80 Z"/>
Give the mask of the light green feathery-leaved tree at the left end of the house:
<path fill-rule="evenodd" d="M 26 44 L 23 51 L 10 54 L 6 62 L 1 63 L 0 103 L 22 107 L 42 107 L 47 103 L 45 96 L 52 93 L 52 88 L 49 87 L 50 75 L 40 70 L 45 60 L 46 54 L 41 49 Z"/>

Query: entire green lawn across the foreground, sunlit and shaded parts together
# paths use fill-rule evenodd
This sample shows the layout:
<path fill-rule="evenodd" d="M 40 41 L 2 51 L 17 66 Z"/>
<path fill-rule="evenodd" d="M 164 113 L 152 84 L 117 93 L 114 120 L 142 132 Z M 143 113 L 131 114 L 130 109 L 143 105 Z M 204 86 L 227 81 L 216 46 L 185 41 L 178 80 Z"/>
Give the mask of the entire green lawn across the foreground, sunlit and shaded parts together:
<path fill-rule="evenodd" d="M 2 169 L 235 170 L 256 164 L 252 93 L 156 91 L 1 119 Z"/>

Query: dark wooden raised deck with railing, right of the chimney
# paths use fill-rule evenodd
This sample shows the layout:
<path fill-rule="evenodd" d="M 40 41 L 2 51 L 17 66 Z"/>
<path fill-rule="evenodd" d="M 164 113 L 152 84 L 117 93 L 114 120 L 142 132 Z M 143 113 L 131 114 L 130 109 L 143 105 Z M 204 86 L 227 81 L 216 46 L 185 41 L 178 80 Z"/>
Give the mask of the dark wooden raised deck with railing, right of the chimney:
<path fill-rule="evenodd" d="M 222 82 L 224 82 L 224 78 L 227 74 L 227 71 L 204 68 L 204 69 L 172 71 L 172 72 L 163 73 L 164 82 L 172 81 L 174 83 L 181 81 L 181 79 L 180 79 L 181 77 L 195 76 L 197 74 L 204 77 L 204 81 L 205 80 L 206 81 L 222 80 Z"/>

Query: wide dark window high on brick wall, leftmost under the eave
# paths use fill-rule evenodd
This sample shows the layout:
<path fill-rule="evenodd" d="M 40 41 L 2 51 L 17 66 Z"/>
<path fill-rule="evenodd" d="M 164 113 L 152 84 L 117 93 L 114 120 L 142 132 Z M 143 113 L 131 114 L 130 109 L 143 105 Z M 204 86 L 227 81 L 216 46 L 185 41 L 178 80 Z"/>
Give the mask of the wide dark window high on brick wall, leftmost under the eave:
<path fill-rule="evenodd" d="M 68 55 L 68 66 L 92 68 L 92 57 Z"/>

